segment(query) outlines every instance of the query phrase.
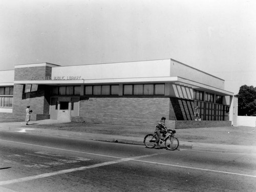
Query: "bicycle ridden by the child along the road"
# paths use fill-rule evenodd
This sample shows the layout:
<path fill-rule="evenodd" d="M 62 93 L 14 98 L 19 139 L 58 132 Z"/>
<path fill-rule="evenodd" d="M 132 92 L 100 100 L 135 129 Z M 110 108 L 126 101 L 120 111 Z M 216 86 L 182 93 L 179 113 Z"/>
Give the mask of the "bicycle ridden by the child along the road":
<path fill-rule="evenodd" d="M 168 150 L 172 150 L 172 151 L 176 150 L 179 147 L 179 140 L 177 137 L 175 137 L 175 133 L 176 133 L 176 130 L 167 129 L 166 133 L 163 133 L 163 135 L 162 135 L 162 137 L 164 137 L 164 138 L 161 137 L 161 139 L 159 140 L 159 144 L 161 145 L 161 143 L 164 142 L 165 147 Z M 155 134 L 147 134 L 144 137 L 144 145 L 147 148 L 154 148 L 156 140 L 157 140 L 156 132 L 155 132 Z"/>

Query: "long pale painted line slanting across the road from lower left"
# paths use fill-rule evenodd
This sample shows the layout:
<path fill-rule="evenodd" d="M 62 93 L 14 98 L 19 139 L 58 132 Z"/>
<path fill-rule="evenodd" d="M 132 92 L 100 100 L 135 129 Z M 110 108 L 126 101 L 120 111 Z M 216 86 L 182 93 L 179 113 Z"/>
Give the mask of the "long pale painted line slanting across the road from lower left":
<path fill-rule="evenodd" d="M 35 179 L 40 179 L 40 178 L 45 178 L 45 177 L 51 177 L 51 176 L 60 175 L 60 174 L 67 174 L 67 173 L 82 171 L 82 170 L 86 170 L 86 169 L 92 169 L 95 167 L 116 164 L 116 163 L 120 163 L 120 162 L 130 161 L 130 160 L 143 158 L 143 157 L 150 157 L 150 156 L 154 156 L 154 155 L 159 155 L 159 154 L 157 153 L 157 154 L 152 154 L 152 155 L 142 155 L 142 156 L 131 157 L 131 158 L 122 158 L 122 159 L 118 159 L 115 161 L 108 161 L 108 162 L 92 164 L 92 165 L 88 165 L 88 166 L 81 166 L 81 167 L 77 167 L 74 169 L 61 170 L 61 171 L 56 171 L 56 172 L 52 172 L 52 173 L 45 173 L 45 174 L 39 174 L 39 175 L 34 175 L 34 176 L 29 176 L 29 177 L 23 177 L 23 178 L 19 178 L 19 179 L 12 179 L 12 180 L 8 180 L 8 181 L 0 181 L 0 186 L 30 181 L 30 180 L 35 180 Z"/>

